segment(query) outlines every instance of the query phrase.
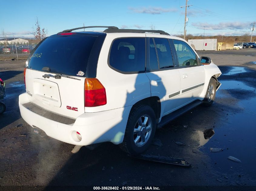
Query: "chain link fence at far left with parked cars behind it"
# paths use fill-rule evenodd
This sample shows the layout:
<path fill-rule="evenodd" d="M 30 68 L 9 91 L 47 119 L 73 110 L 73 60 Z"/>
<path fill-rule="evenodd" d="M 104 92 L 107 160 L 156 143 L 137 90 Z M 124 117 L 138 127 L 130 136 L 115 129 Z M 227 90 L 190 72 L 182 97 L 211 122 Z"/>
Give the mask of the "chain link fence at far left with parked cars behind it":
<path fill-rule="evenodd" d="M 32 38 L 0 38 L 0 60 L 25 60 L 37 43 L 38 41 Z"/>

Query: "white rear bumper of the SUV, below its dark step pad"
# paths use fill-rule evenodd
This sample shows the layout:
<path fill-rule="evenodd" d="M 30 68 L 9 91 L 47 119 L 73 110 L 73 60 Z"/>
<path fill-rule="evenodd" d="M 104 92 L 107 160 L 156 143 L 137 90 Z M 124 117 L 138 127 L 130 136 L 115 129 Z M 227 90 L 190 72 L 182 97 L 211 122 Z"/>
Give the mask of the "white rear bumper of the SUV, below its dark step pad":
<path fill-rule="evenodd" d="M 30 126 L 38 127 L 48 136 L 73 145 L 91 145 L 100 142 L 120 144 L 124 138 L 127 119 L 132 107 L 83 113 L 78 116 L 74 124 L 66 125 L 28 110 L 22 105 L 28 102 L 26 93 L 19 95 L 21 116 Z M 82 136 L 80 142 L 76 139 L 76 132 Z"/>

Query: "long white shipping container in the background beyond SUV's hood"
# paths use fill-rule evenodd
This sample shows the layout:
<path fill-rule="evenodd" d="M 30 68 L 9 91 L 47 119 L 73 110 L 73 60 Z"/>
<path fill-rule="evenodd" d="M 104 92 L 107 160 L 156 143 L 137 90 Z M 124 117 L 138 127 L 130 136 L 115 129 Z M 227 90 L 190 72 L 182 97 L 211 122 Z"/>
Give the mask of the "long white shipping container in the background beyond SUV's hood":
<path fill-rule="evenodd" d="M 188 44 L 195 50 L 217 50 L 217 39 L 193 39 Z"/>

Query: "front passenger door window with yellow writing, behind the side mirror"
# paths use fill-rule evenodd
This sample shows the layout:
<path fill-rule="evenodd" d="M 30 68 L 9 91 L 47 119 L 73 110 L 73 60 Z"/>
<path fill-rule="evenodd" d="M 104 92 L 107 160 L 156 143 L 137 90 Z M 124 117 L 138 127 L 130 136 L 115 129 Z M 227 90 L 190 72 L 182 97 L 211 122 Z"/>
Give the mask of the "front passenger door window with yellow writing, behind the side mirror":
<path fill-rule="evenodd" d="M 197 56 L 187 43 L 175 39 L 173 39 L 173 43 L 178 55 L 179 66 L 197 65 Z"/>

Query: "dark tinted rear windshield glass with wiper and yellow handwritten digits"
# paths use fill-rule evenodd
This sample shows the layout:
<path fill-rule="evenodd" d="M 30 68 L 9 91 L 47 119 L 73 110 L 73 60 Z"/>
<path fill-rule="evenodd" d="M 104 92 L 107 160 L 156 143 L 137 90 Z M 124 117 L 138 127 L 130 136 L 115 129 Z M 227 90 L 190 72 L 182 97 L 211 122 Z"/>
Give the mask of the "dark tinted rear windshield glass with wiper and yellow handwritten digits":
<path fill-rule="evenodd" d="M 45 69 L 48 67 L 51 73 L 85 76 L 96 38 L 92 36 L 49 37 L 35 50 L 28 68 L 48 72 Z"/>

